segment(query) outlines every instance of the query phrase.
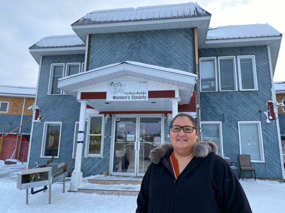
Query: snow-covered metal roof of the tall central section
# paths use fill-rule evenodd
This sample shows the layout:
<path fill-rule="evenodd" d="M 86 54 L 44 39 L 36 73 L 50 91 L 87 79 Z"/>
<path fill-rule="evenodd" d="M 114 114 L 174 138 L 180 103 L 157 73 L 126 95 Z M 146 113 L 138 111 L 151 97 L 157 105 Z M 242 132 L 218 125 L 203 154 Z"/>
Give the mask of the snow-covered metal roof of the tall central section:
<path fill-rule="evenodd" d="M 72 25 L 99 24 L 122 21 L 185 18 L 210 15 L 197 3 L 157 5 L 92 11 Z"/>

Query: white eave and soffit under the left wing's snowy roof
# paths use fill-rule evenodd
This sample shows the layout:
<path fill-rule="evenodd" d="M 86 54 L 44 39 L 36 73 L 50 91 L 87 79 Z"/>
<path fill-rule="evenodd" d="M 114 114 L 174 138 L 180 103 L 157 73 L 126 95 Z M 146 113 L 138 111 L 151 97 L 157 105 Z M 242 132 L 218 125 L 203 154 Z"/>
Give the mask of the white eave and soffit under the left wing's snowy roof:
<path fill-rule="evenodd" d="M 85 54 L 85 46 L 29 49 L 29 52 L 39 64 L 41 56 Z"/>

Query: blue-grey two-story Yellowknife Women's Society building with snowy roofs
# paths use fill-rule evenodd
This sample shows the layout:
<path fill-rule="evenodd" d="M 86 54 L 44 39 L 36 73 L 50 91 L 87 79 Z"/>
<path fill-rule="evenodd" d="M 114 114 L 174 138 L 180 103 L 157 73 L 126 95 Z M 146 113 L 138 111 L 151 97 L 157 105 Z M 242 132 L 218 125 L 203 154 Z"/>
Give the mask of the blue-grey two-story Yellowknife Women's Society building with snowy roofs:
<path fill-rule="evenodd" d="M 250 154 L 257 177 L 284 179 L 270 108 L 282 35 L 268 24 L 213 29 L 210 19 L 196 3 L 92 11 L 72 24 L 76 35 L 31 46 L 41 119 L 34 109 L 29 166 L 75 157 L 74 191 L 104 171 L 143 176 L 186 112 L 219 155 Z"/>

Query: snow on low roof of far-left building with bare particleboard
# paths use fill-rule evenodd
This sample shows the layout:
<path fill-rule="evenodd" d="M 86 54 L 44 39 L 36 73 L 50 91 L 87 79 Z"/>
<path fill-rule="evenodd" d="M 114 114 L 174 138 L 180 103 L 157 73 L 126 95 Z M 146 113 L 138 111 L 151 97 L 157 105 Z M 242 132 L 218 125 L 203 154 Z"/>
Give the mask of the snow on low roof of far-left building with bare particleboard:
<path fill-rule="evenodd" d="M 36 87 L 0 85 L 0 93 L 36 96 Z"/>

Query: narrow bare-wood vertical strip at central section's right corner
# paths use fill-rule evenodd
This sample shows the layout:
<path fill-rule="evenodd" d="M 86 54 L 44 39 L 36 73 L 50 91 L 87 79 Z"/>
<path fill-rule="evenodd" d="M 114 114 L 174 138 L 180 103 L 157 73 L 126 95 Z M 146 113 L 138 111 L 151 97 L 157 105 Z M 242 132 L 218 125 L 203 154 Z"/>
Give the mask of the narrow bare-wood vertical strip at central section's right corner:
<path fill-rule="evenodd" d="M 198 57 L 198 38 L 197 28 L 194 28 L 194 41 L 195 41 L 195 65 L 196 65 L 196 114 L 197 114 L 197 127 L 198 127 L 198 141 L 201 141 L 201 119 L 200 119 L 200 75 L 199 75 L 199 57 Z"/>

